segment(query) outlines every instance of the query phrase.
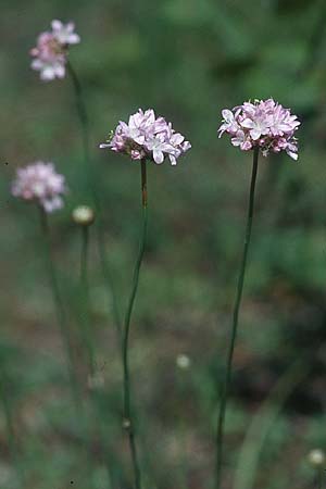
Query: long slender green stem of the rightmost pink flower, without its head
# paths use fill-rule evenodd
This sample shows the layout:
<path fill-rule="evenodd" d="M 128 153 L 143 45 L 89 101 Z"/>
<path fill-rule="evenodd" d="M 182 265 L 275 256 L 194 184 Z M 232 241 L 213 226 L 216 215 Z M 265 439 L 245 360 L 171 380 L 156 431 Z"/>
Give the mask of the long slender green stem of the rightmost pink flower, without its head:
<path fill-rule="evenodd" d="M 250 243 L 250 237 L 251 237 L 253 206 L 254 206 L 254 189 L 255 189 L 255 181 L 256 181 L 256 174 L 258 174 L 258 163 L 259 163 L 259 149 L 254 149 L 251 184 L 250 184 L 250 195 L 249 195 L 247 227 L 246 227 L 246 235 L 244 235 L 244 246 L 243 246 L 242 261 L 241 261 L 240 273 L 239 273 L 239 278 L 238 278 L 236 301 L 235 301 L 234 314 L 233 314 L 231 337 L 230 337 L 230 342 L 229 342 L 228 352 L 227 352 L 226 372 L 225 372 L 224 385 L 223 385 L 222 397 L 221 397 L 221 406 L 220 406 L 220 413 L 218 413 L 218 419 L 217 419 L 216 461 L 215 461 L 215 463 L 216 463 L 216 465 L 215 465 L 215 471 L 216 471 L 215 487 L 216 487 L 216 489 L 221 488 L 221 480 L 222 480 L 225 412 L 226 412 L 226 403 L 227 403 L 229 384 L 230 384 L 233 358 L 234 358 L 234 350 L 235 350 L 237 329 L 238 329 L 238 318 L 239 318 L 239 310 L 240 310 L 240 305 L 241 305 L 246 265 L 247 265 L 247 259 L 248 259 L 248 250 L 249 250 L 249 243 Z"/>

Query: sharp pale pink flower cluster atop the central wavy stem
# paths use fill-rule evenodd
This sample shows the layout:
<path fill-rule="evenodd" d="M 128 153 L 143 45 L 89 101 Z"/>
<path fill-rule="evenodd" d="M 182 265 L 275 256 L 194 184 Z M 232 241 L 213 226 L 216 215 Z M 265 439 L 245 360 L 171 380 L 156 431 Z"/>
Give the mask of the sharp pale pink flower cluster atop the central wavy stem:
<path fill-rule="evenodd" d="M 164 117 L 156 117 L 152 109 L 141 109 L 130 115 L 128 124 L 120 122 L 115 131 L 100 148 L 125 153 L 131 160 L 152 160 L 161 164 L 168 156 L 171 164 L 191 148 L 185 137 L 172 128 Z"/>

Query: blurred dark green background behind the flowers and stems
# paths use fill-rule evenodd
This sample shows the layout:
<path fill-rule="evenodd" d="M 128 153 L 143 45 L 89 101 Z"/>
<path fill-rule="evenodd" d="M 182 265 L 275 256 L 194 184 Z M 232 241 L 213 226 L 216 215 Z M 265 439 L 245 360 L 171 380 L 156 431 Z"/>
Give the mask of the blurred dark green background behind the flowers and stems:
<path fill-rule="evenodd" d="M 92 389 L 96 414 L 78 344 L 80 236 L 70 216 L 90 197 L 72 84 L 41 83 L 29 67 L 28 51 L 52 18 L 74 20 L 82 36 L 70 59 L 88 106 L 121 311 L 140 231 L 139 166 L 98 145 L 139 106 L 154 108 L 192 143 L 177 167 L 149 167 L 149 242 L 130 341 L 146 488 L 212 484 L 251 166 L 250 153 L 226 137 L 217 140 L 221 110 L 273 97 L 302 121 L 298 163 L 286 155 L 260 162 L 224 487 L 314 487 L 306 453 L 326 449 L 325 1 L 1 0 L 0 12 L 0 487 L 131 487 L 120 350 L 95 229 L 91 325 L 104 381 Z M 53 161 L 70 188 L 65 209 L 51 216 L 51 233 L 84 422 L 71 405 L 38 215 L 10 196 L 15 168 L 36 160 Z M 176 365 L 179 354 L 190 358 L 188 369 Z"/>

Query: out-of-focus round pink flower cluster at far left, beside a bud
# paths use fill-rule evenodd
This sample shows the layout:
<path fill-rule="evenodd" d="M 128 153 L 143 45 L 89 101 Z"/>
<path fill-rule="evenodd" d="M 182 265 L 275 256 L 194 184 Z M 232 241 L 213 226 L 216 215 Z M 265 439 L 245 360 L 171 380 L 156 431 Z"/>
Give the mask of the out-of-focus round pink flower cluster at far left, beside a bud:
<path fill-rule="evenodd" d="M 66 192 L 63 175 L 55 172 L 52 163 L 41 161 L 18 168 L 12 184 L 12 195 L 29 202 L 36 202 L 46 212 L 63 206 L 62 196 Z"/>

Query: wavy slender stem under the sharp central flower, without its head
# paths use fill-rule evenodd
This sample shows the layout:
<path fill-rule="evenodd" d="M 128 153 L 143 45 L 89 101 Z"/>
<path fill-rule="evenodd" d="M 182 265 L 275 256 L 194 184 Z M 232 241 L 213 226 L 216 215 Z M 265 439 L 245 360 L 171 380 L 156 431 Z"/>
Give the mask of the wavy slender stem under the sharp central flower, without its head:
<path fill-rule="evenodd" d="M 141 262 L 145 253 L 146 236 L 147 236 L 147 175 L 146 172 L 146 160 L 141 160 L 141 198 L 142 198 L 142 234 L 139 247 L 139 253 L 136 262 L 136 267 L 134 272 L 134 280 L 131 287 L 131 293 L 128 301 L 127 312 L 125 316 L 125 329 L 123 338 L 123 365 L 124 365 L 124 427 L 128 431 L 129 448 L 133 460 L 134 475 L 135 475 L 135 488 L 141 489 L 141 475 L 140 467 L 137 456 L 137 444 L 135 439 L 135 427 L 134 427 L 134 416 L 131 415 L 130 406 L 130 375 L 129 375 L 129 358 L 128 358 L 128 340 L 129 340 L 129 329 L 130 329 L 130 318 L 134 308 L 134 302 L 136 299 L 136 293 L 138 289 L 139 272 L 141 267 Z"/>

